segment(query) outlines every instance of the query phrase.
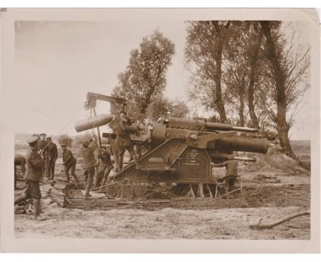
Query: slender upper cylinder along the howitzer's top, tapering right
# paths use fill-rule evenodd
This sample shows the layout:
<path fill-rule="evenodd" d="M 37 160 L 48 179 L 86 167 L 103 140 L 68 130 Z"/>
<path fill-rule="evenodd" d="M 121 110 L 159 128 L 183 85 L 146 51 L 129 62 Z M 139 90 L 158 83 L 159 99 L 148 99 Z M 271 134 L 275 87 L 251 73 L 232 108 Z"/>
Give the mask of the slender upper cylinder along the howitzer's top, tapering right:
<path fill-rule="evenodd" d="M 217 131 L 242 131 L 242 132 L 259 132 L 256 128 L 243 128 L 226 123 L 213 123 L 204 119 L 183 119 L 170 117 L 163 119 L 169 128 L 188 129 L 188 130 L 217 130 Z"/>

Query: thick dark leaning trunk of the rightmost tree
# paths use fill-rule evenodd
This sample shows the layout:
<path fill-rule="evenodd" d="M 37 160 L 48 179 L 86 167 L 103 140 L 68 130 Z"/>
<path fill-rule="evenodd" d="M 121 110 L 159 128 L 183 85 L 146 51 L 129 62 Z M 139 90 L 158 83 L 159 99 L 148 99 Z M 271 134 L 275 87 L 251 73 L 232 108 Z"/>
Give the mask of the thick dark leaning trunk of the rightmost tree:
<path fill-rule="evenodd" d="M 272 64 L 272 69 L 275 75 L 276 82 L 276 105 L 277 105 L 277 115 L 276 115 L 276 130 L 278 132 L 278 138 L 283 146 L 283 152 L 294 159 L 296 155 L 292 151 L 289 145 L 289 125 L 286 121 L 286 97 L 285 97 L 285 83 L 283 77 L 283 71 L 278 62 L 278 57 L 276 56 L 274 40 L 271 35 L 270 23 L 269 21 L 260 21 L 263 34 L 267 42 L 268 58 Z"/>

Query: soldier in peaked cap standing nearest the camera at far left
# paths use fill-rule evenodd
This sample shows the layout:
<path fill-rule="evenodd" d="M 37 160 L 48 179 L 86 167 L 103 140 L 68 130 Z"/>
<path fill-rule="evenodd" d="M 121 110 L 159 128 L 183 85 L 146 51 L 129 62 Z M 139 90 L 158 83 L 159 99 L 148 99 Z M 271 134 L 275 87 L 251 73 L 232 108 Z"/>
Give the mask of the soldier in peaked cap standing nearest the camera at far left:
<path fill-rule="evenodd" d="M 43 167 L 45 165 L 45 161 L 41 158 L 40 154 L 38 154 L 38 139 L 35 136 L 32 136 L 32 139 L 29 139 L 27 143 L 29 143 L 30 151 L 27 152 L 27 156 L 25 158 L 27 169 L 25 172 L 25 190 L 19 198 L 14 200 L 14 204 L 19 204 L 27 200 L 28 198 L 34 199 L 34 219 L 43 221 L 45 217 L 40 216 L 40 187 L 39 182 L 41 177 L 43 176 Z"/>

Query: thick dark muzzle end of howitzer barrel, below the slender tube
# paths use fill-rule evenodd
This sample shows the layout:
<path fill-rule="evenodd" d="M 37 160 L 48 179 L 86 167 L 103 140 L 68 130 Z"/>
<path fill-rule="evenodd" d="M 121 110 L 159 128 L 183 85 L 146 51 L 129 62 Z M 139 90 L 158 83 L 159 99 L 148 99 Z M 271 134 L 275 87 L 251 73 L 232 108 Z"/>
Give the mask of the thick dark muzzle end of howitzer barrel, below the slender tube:
<path fill-rule="evenodd" d="M 245 136 L 230 136 L 207 144 L 209 150 L 215 151 L 242 151 L 265 154 L 268 151 L 268 141 Z"/>

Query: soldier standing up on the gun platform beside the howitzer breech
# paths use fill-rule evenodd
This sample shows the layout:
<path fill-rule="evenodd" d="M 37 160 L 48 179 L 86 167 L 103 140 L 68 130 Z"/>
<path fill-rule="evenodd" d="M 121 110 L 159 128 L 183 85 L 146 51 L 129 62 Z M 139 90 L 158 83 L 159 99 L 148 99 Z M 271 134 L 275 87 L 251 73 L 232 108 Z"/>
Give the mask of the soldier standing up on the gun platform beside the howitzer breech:
<path fill-rule="evenodd" d="M 125 150 L 128 150 L 130 156 L 132 156 L 132 159 L 134 159 L 136 168 L 139 168 L 138 159 L 134 152 L 134 147 L 129 135 L 131 132 L 136 132 L 136 128 L 131 126 L 130 119 L 126 117 L 125 112 L 121 111 L 119 115 L 120 123 L 115 127 L 115 132 L 117 134 L 115 147 L 117 151 L 119 169 L 123 169 L 123 154 L 125 153 Z"/>

